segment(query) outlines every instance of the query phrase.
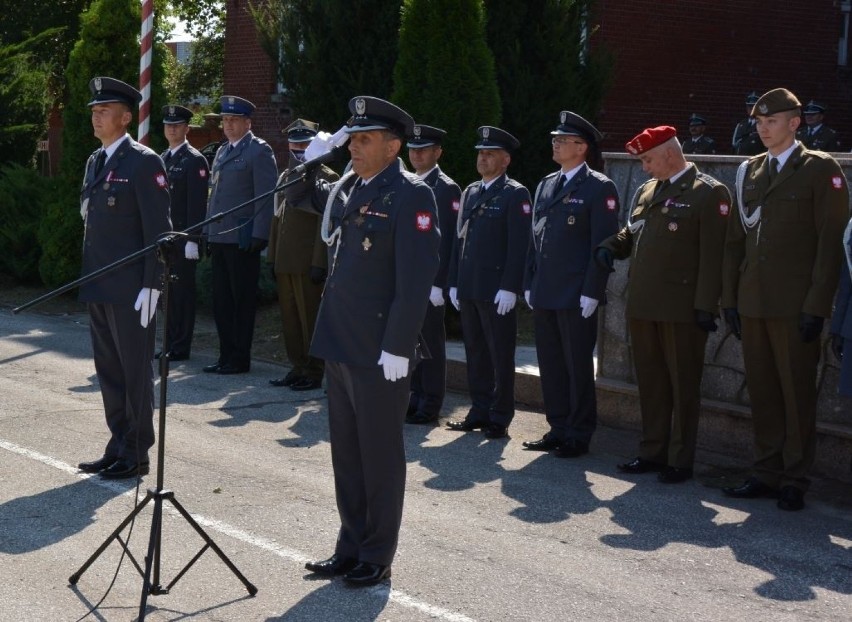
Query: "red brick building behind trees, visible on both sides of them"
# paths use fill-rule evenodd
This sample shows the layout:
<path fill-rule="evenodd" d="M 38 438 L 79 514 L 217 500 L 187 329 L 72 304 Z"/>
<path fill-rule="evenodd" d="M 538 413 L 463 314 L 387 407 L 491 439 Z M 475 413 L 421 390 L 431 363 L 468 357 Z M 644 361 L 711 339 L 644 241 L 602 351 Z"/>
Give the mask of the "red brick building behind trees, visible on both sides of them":
<path fill-rule="evenodd" d="M 686 121 L 708 119 L 708 135 L 729 153 L 745 97 L 784 86 L 803 104 L 827 106 L 825 123 L 852 148 L 852 79 L 846 49 L 850 0 L 597 0 L 593 45 L 615 56 L 614 77 L 597 117 L 604 148 L 649 125 L 670 124 L 685 138 Z M 227 0 L 225 91 L 254 102 L 255 133 L 286 149 L 282 101 L 271 59 L 260 48 L 248 0 Z M 453 43 L 457 45 L 457 43 Z M 523 140 L 523 138 L 521 137 Z"/>

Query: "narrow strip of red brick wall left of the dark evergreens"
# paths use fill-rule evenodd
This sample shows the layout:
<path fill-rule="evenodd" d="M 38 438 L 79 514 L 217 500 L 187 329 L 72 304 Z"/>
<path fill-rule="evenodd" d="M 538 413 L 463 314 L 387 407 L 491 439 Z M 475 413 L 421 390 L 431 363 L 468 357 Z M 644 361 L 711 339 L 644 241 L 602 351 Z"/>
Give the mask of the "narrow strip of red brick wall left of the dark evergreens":
<path fill-rule="evenodd" d="M 290 123 L 290 109 L 278 94 L 272 59 L 260 47 L 248 0 L 227 0 L 225 24 L 225 94 L 244 97 L 257 106 L 252 132 L 286 159 L 287 141 L 281 130 Z"/>

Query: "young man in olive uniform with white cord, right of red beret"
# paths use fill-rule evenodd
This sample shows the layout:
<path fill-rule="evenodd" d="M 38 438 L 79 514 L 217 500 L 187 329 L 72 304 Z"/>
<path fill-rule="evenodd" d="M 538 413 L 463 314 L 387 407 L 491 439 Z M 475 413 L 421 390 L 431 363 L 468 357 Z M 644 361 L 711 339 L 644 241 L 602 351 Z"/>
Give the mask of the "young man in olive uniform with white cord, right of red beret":
<path fill-rule="evenodd" d="M 840 166 L 796 140 L 801 104 L 787 89 L 755 104 L 767 153 L 737 172 L 729 221 L 722 307 L 742 337 L 754 425 L 754 465 L 731 497 L 778 496 L 804 507 L 816 451 L 820 334 L 843 260 L 849 190 Z"/>

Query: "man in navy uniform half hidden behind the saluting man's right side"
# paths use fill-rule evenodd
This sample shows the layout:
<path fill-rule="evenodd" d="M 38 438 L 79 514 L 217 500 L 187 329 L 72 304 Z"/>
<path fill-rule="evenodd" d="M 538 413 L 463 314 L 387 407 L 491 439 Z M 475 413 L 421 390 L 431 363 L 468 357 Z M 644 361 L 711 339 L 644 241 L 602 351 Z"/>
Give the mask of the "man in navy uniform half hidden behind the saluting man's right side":
<path fill-rule="evenodd" d="M 430 358 L 424 359 L 411 376 L 411 396 L 408 402 L 406 423 L 434 424 L 438 421 L 447 386 L 447 333 L 444 328 L 446 311 L 445 291 L 450 256 L 453 252 L 452 235 L 459 212 L 461 189 L 438 166 L 441 141 L 446 132 L 429 125 L 414 126 L 408 139 L 408 159 L 414 172 L 432 188 L 438 207 L 438 224 L 441 231 L 438 274 L 432 283 L 426 319 L 421 329 Z"/>

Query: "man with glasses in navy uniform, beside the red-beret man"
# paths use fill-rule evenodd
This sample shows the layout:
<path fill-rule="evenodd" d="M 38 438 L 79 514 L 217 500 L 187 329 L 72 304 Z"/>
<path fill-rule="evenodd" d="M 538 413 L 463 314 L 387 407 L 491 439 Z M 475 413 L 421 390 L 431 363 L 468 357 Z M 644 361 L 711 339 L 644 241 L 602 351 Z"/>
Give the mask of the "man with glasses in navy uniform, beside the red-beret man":
<path fill-rule="evenodd" d="M 524 447 L 574 458 L 589 451 L 597 426 L 593 356 L 609 274 L 594 250 L 618 231 L 619 199 L 615 184 L 586 163 L 602 138 L 591 123 L 563 110 L 551 134 L 561 169 L 536 189 L 524 278 L 550 431 Z"/>

